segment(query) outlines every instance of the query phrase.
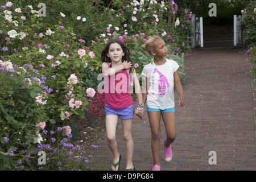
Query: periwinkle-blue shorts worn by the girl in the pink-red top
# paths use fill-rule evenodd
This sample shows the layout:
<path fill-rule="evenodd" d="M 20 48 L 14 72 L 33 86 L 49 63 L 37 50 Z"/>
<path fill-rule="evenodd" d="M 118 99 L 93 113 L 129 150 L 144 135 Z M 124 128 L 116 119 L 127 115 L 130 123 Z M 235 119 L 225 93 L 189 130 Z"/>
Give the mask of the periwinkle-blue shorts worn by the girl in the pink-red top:
<path fill-rule="evenodd" d="M 130 119 L 134 117 L 133 104 L 122 109 L 114 109 L 105 103 L 105 109 L 106 115 L 118 115 L 121 119 Z"/>

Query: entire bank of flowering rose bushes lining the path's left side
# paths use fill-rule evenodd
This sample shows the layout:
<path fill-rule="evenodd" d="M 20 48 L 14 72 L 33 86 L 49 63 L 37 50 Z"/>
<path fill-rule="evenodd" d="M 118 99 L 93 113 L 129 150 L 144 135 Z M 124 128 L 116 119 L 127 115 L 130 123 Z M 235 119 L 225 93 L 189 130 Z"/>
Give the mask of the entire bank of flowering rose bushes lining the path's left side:
<path fill-rule="evenodd" d="M 168 57 L 180 64 L 181 81 L 185 79 L 183 52 L 191 13 L 183 11 L 177 19 L 174 1 L 119 0 L 112 9 L 103 8 L 101 1 L 86 1 L 84 7 L 48 2 L 47 18 L 39 16 L 38 2 L 1 2 L 1 169 L 64 169 L 63 153 L 70 157 L 65 169 L 88 164 L 70 166 L 77 148 L 67 147 L 66 139 L 78 138 L 104 111 L 104 94 L 96 88 L 102 81 L 97 79 L 101 50 L 109 39 L 121 39 L 129 47 L 140 74 L 150 57 L 139 47 L 149 35 L 162 36 L 170 48 Z M 46 166 L 37 166 L 40 150 L 46 152 Z"/>

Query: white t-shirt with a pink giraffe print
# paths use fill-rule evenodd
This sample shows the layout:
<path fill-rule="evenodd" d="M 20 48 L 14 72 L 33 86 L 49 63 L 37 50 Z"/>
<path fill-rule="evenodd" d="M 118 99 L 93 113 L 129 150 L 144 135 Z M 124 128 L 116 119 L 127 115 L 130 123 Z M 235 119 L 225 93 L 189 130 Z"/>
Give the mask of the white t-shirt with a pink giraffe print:
<path fill-rule="evenodd" d="M 154 109 L 167 109 L 175 106 L 174 72 L 179 65 L 174 60 L 166 59 L 163 65 L 147 64 L 142 75 L 149 78 L 150 88 L 147 94 L 147 106 Z"/>

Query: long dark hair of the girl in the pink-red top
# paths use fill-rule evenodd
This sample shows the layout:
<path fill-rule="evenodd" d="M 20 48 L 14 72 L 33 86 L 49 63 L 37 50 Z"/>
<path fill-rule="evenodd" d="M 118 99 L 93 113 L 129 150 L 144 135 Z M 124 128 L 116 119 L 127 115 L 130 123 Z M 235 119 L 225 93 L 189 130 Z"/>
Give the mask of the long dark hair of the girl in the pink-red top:
<path fill-rule="evenodd" d="M 106 63 L 111 63 L 111 59 L 107 56 L 107 53 L 109 52 L 109 47 L 111 44 L 114 44 L 114 43 L 118 43 L 123 52 L 125 53 L 125 55 L 122 56 L 122 62 L 123 61 L 128 61 L 128 62 L 131 62 L 131 64 L 133 64 L 133 61 L 131 60 L 131 57 L 130 57 L 130 51 L 129 49 L 125 46 L 125 44 L 119 40 L 119 39 L 111 39 L 109 40 L 109 42 L 106 44 L 105 48 L 103 49 L 103 51 L 101 52 L 101 61 L 102 63 L 106 62 Z M 132 67 L 130 68 L 130 73 L 133 73 L 133 65 Z"/>

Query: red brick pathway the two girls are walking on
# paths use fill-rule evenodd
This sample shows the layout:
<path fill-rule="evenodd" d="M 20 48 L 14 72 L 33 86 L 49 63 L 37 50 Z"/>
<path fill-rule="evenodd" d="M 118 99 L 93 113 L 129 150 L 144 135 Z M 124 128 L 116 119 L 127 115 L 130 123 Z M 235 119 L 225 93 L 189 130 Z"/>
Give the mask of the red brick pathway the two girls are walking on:
<path fill-rule="evenodd" d="M 163 159 L 166 134 L 161 122 L 163 171 L 256 169 L 251 64 L 239 51 L 236 48 L 193 49 L 185 56 L 186 105 L 176 104 L 177 138 L 172 144 L 170 163 Z M 133 137 L 134 166 L 137 170 L 150 171 L 153 160 L 147 114 L 143 119 L 134 118 Z M 122 155 L 120 170 L 124 170 L 126 154 L 121 123 L 117 127 L 117 141 Z M 108 170 L 113 156 L 106 137 L 98 139 L 97 144 L 97 164 L 106 164 L 103 170 Z M 210 151 L 216 151 L 217 164 L 209 164 Z"/>

